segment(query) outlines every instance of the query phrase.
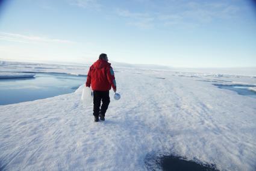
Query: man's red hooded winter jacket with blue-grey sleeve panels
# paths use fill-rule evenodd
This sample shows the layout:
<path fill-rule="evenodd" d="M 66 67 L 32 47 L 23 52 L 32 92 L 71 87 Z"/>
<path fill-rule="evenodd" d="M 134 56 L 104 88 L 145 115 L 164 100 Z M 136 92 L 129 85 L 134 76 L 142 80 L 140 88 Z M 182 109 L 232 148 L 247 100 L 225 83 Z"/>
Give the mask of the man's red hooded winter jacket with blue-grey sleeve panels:
<path fill-rule="evenodd" d="M 114 71 L 105 60 L 97 60 L 89 69 L 87 74 L 86 87 L 90 87 L 92 84 L 92 90 L 107 91 L 116 89 L 116 80 L 114 79 Z"/>

